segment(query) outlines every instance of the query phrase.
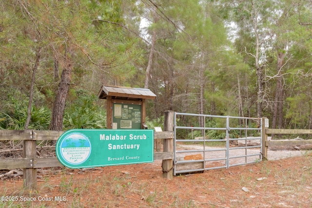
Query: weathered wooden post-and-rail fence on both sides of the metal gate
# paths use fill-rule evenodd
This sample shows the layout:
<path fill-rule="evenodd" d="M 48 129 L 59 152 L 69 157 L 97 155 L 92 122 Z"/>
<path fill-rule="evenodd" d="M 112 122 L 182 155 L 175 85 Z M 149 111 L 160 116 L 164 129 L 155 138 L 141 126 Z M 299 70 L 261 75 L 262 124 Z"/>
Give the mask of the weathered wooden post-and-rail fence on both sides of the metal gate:
<path fill-rule="evenodd" d="M 163 177 L 173 178 L 173 159 L 174 159 L 174 132 L 173 132 L 172 111 L 165 112 L 164 132 L 154 132 L 156 140 L 156 151 L 154 151 L 154 160 L 162 160 Z M 264 123 L 264 120 L 263 120 Z M 38 158 L 37 141 L 58 140 L 62 131 L 35 131 L 35 130 L 0 130 L 0 141 L 22 140 L 23 158 L 10 158 L 0 160 L 0 170 L 23 169 L 24 187 L 26 189 L 37 189 L 37 169 L 62 167 L 56 157 Z M 286 130 L 286 129 L 268 129 L 262 127 L 262 154 L 264 159 L 268 157 L 268 147 L 273 146 L 291 146 L 291 145 L 312 145 L 311 140 L 292 140 L 292 141 L 268 141 L 268 134 L 312 134 L 312 130 Z M 160 151 L 159 140 L 163 140 L 163 151 Z"/>

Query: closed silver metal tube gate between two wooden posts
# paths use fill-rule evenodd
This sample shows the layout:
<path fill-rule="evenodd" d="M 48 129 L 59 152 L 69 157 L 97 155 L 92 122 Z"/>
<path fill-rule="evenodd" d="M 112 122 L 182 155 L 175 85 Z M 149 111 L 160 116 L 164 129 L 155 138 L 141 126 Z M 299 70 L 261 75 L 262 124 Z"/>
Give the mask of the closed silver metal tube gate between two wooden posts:
<path fill-rule="evenodd" d="M 205 125 L 178 126 L 180 118 L 202 119 Z M 261 126 L 261 118 L 175 112 L 174 175 L 262 161 Z"/>

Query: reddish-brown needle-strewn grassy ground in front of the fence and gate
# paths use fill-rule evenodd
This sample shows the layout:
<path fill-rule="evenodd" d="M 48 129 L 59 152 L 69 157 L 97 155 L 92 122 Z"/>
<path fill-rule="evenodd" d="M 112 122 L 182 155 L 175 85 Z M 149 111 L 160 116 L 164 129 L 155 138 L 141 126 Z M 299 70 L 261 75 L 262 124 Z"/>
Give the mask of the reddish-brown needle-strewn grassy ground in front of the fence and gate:
<path fill-rule="evenodd" d="M 140 167 L 138 169 L 137 167 Z M 66 201 L 0 201 L 0 208 L 82 207 L 309 207 L 312 203 L 312 154 L 300 159 L 263 161 L 253 165 L 209 170 L 201 174 L 161 178 L 141 166 L 123 166 L 44 176 L 38 191 L 22 189 L 22 181 L 0 182 L 0 196 L 65 197 Z M 115 169 L 114 169 L 115 168 Z M 121 169 L 121 168 L 120 168 Z M 257 178 L 267 177 L 261 181 Z M 242 191 L 242 187 L 249 192 Z M 281 204 L 278 204 L 281 203 Z"/>

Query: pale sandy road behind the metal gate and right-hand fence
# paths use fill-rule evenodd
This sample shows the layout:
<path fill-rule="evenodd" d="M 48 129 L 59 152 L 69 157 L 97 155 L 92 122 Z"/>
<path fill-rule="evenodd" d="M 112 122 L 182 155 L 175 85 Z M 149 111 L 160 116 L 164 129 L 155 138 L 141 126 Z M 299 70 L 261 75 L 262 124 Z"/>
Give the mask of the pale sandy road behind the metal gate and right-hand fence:
<path fill-rule="evenodd" d="M 196 161 L 203 160 L 204 158 L 206 160 L 205 161 L 206 170 L 257 163 L 262 158 L 260 148 L 248 147 L 246 149 L 245 148 L 236 149 L 240 147 L 233 145 L 229 148 L 229 160 L 228 161 L 226 160 L 227 156 L 226 156 L 225 147 L 207 147 L 206 146 L 205 152 L 203 152 L 203 148 L 204 148 L 203 145 L 177 144 L 176 145 L 177 152 L 178 151 L 192 151 L 192 152 L 176 153 L 176 161 L 179 161 L 176 164 L 176 174 L 186 173 L 184 172 L 186 170 L 192 170 L 190 171 L 191 173 L 191 172 L 196 172 L 196 170 L 202 169 L 203 163 L 196 162 Z M 305 155 L 306 153 L 308 153 L 308 151 L 268 150 L 267 159 L 279 160 L 279 159 L 284 159 L 288 157 L 302 156 L 302 155 Z"/>

